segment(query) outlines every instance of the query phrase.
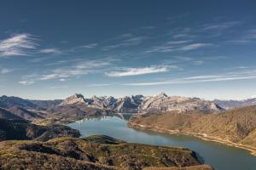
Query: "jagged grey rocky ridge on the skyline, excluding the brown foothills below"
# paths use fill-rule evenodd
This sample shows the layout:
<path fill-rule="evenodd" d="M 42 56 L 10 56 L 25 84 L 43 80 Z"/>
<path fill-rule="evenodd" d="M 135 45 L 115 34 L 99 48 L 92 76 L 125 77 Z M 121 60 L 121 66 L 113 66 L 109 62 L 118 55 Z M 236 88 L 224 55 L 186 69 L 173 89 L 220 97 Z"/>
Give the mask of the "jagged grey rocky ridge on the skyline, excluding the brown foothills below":
<path fill-rule="evenodd" d="M 29 100 L 17 97 L 0 97 L 0 107 L 10 109 L 20 107 L 24 109 L 44 109 L 46 111 L 57 111 L 58 108 L 69 107 L 71 105 L 79 105 L 79 108 L 86 107 L 99 111 L 112 111 L 120 113 L 146 113 L 146 112 L 166 112 L 166 111 L 206 111 L 218 112 L 222 108 L 212 101 L 187 98 L 180 96 L 167 96 L 160 93 L 154 96 L 132 95 L 123 98 L 114 98 L 113 96 L 93 96 L 85 99 L 82 94 L 73 94 L 67 99 L 56 100 Z M 84 109 L 82 109 L 84 111 Z M 58 112 L 58 111 L 57 111 Z M 85 111 L 86 112 L 86 111 Z"/>

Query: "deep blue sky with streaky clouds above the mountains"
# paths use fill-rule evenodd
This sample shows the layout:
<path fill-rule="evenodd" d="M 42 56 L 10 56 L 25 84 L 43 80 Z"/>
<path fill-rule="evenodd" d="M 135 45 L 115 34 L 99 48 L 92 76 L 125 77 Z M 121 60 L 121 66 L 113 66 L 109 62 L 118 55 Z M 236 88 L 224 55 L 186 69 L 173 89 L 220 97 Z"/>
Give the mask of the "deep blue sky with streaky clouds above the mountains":
<path fill-rule="evenodd" d="M 0 95 L 256 95 L 256 2 L 3 0 Z"/>

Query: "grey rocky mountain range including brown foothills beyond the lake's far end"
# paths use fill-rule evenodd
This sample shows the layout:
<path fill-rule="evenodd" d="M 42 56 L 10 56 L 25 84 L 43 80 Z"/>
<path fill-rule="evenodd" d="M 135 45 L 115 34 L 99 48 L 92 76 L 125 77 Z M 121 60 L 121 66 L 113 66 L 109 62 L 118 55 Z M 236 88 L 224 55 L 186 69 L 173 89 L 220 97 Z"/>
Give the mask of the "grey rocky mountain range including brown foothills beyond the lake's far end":
<path fill-rule="evenodd" d="M 112 96 L 93 96 L 85 99 L 82 94 L 73 94 L 67 99 L 30 100 L 18 97 L 0 97 L 0 116 L 12 114 L 28 121 L 40 124 L 61 123 L 77 121 L 84 116 L 110 115 L 114 113 L 165 113 L 168 111 L 204 111 L 217 113 L 224 109 L 212 101 L 187 98 L 180 96 L 167 96 L 160 93 L 154 96 L 132 95 L 123 98 Z M 7 114 L 7 112 L 9 114 Z M 9 117 L 8 116 L 8 117 Z"/>

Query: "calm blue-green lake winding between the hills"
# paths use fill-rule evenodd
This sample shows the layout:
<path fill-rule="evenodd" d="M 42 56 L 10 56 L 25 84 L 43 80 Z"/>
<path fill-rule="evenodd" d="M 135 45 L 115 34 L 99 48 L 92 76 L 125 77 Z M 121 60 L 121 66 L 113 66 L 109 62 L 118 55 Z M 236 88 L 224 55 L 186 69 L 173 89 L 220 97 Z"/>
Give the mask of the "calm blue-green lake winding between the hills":
<path fill-rule="evenodd" d="M 106 134 L 127 142 L 189 148 L 198 153 L 201 161 L 217 170 L 256 170 L 256 156 L 251 156 L 247 150 L 187 135 L 137 130 L 127 127 L 126 123 L 126 120 L 119 117 L 108 116 L 73 122 L 68 126 L 79 129 L 82 136 Z"/>

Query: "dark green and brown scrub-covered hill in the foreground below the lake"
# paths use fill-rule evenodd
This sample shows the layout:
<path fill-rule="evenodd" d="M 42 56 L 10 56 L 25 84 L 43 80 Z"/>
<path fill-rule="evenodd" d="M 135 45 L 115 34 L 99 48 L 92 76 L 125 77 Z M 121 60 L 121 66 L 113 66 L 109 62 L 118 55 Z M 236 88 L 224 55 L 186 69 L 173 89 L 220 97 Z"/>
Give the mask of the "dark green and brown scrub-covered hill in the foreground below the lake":
<path fill-rule="evenodd" d="M 107 136 L 47 142 L 4 141 L 0 148 L 3 148 L 0 169 L 143 169 L 201 165 L 191 150 L 130 144 Z"/>

